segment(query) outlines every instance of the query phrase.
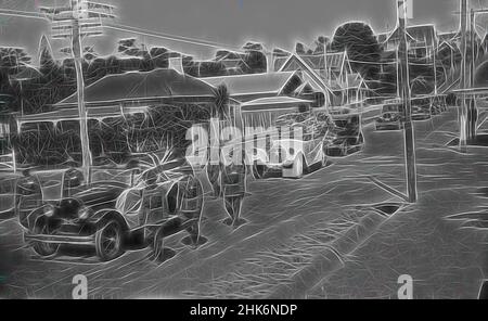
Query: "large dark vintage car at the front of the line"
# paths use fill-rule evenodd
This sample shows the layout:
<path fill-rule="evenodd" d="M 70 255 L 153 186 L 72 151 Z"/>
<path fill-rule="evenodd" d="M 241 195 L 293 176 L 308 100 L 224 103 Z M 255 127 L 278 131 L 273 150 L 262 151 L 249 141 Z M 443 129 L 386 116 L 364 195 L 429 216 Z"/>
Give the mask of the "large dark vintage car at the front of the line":
<path fill-rule="evenodd" d="M 160 249 L 165 237 L 181 231 L 197 244 L 203 188 L 191 168 L 169 162 L 140 174 L 128 170 L 129 176 L 101 171 L 88 184 L 79 170 L 65 172 L 61 200 L 43 198 L 35 210 L 21 213 L 26 242 L 41 257 L 66 245 L 92 248 L 102 261 L 127 249 Z"/>

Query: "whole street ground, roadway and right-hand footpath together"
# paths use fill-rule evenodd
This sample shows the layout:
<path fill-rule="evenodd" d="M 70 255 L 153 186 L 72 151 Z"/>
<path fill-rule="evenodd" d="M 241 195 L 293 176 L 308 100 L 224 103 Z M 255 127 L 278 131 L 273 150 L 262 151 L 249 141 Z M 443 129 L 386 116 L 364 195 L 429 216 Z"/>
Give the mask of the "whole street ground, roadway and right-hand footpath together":
<path fill-rule="evenodd" d="M 396 280 L 404 273 L 422 278 L 420 297 L 476 296 L 487 268 L 485 233 L 479 224 L 460 229 L 463 220 L 446 217 L 479 210 L 472 208 L 473 201 L 486 197 L 477 192 L 488 185 L 488 162 L 484 149 L 460 154 L 445 146 L 455 138 L 455 118 L 451 108 L 415 123 L 420 202 L 414 206 L 367 178 L 404 192 L 402 133 L 375 132 L 370 124 L 365 149 L 356 155 L 333 159 L 301 180 L 251 181 L 243 207 L 248 223 L 236 231 L 221 223 L 221 201 L 206 200 L 203 234 L 208 242 L 195 251 L 174 237 L 169 245 L 178 254 L 164 264 L 149 260 L 149 251 L 108 264 L 68 257 L 42 261 L 24 248 L 15 219 L 0 222 L 0 235 L 8 234 L 0 243 L 17 261 L 7 295 L 69 298 L 73 277 L 85 274 L 94 298 L 261 298 L 298 286 L 297 275 L 320 262 L 328 248 L 341 247 L 334 251 L 343 262 L 313 270 L 317 282 L 300 285 L 305 296 L 395 297 Z M 385 203 L 397 204 L 399 211 L 378 211 Z M 348 231 L 358 228 L 352 242 Z M 344 241 L 350 242 L 343 247 Z"/>

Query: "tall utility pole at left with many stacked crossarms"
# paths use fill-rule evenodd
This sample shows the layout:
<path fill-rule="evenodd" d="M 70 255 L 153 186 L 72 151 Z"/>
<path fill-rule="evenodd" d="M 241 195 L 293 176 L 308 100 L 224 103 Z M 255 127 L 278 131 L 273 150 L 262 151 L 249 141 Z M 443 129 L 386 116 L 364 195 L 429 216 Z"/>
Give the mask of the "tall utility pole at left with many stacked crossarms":
<path fill-rule="evenodd" d="M 113 5 L 95 3 L 87 0 L 68 0 L 69 4 L 59 8 L 41 8 L 52 22 L 52 38 L 68 39 L 75 63 L 76 86 L 78 97 L 78 114 L 81 140 L 82 172 L 86 182 L 90 181 L 91 153 L 88 134 L 88 113 L 85 104 L 85 77 L 82 69 L 82 39 L 101 36 L 102 22 L 115 18 Z"/>

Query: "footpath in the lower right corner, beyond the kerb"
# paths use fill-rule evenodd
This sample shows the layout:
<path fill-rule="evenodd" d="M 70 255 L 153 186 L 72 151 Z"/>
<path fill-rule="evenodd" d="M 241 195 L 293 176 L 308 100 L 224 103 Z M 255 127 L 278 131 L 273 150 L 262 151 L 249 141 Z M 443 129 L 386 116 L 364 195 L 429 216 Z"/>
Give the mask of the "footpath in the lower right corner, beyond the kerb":
<path fill-rule="evenodd" d="M 397 298 L 401 274 L 413 278 L 414 298 L 477 298 L 488 275 L 486 214 L 471 221 L 449 220 L 479 210 L 473 189 L 428 191 L 420 202 L 384 222 L 344 268 L 308 293 L 310 298 Z M 488 205 L 488 200 L 485 201 Z M 483 210 L 483 209 L 481 209 Z M 485 219 L 484 219 L 485 217 Z M 477 226 L 466 228 L 466 222 Z"/>

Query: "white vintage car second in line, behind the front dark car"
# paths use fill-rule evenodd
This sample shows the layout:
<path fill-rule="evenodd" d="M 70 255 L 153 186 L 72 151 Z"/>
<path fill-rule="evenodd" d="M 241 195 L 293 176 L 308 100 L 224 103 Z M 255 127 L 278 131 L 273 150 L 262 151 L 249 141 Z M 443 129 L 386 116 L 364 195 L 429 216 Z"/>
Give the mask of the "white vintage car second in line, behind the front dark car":
<path fill-rule="evenodd" d="M 265 147 L 255 147 L 249 157 L 255 178 L 269 172 L 281 174 L 283 178 L 301 178 L 304 175 L 326 165 L 323 143 L 332 128 L 323 113 L 296 113 L 279 117 L 275 125 L 290 129 L 290 134 L 266 140 Z M 299 137 L 294 133 L 299 132 Z M 259 145 L 259 144 L 256 144 Z"/>

